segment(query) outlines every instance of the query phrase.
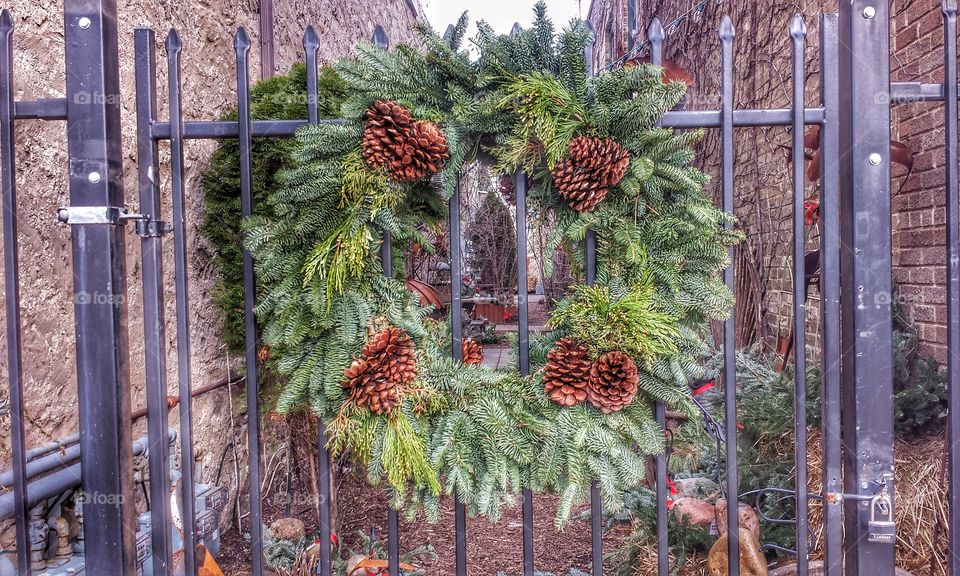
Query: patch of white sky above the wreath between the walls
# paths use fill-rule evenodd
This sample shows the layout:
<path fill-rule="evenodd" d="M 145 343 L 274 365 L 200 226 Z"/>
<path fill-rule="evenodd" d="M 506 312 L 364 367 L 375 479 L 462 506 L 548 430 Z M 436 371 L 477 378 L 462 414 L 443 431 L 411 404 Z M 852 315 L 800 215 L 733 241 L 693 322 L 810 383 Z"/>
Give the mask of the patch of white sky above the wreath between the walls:
<path fill-rule="evenodd" d="M 527 28 L 533 21 L 533 5 L 537 0 L 420 0 L 427 19 L 434 30 L 443 34 L 448 24 L 456 24 L 464 11 L 469 12 L 470 31 L 467 38 L 476 35 L 476 23 L 486 20 L 493 29 L 507 34 L 514 22 Z M 559 32 L 571 18 L 586 18 L 590 0 L 546 0 L 547 15 Z"/>

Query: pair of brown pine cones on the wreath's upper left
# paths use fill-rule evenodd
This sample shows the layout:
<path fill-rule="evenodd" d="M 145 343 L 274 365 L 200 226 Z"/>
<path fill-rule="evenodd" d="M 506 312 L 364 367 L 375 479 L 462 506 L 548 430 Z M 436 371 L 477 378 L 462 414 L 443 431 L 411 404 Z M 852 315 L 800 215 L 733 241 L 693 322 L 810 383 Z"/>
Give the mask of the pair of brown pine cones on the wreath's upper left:
<path fill-rule="evenodd" d="M 433 122 L 414 122 L 410 111 L 390 100 L 367 109 L 363 157 L 371 168 L 386 167 L 401 182 L 419 180 L 443 169 L 450 149 Z"/>

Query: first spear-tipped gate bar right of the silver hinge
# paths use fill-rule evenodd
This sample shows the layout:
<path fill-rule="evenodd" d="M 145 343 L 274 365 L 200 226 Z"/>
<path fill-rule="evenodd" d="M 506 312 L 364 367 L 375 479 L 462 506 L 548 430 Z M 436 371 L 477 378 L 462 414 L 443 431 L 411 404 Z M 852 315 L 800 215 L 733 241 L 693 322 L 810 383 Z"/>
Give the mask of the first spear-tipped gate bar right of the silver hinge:
<path fill-rule="evenodd" d="M 193 479 L 193 375 L 190 358 L 190 295 L 187 278 L 187 194 L 183 182 L 183 103 L 180 100 L 180 52 L 176 30 L 167 36 L 167 85 L 170 103 L 170 179 L 173 197 L 173 264 L 177 302 L 177 378 L 180 383 L 180 507 L 183 510 L 183 562 L 196 574 L 196 519 Z M 164 432 L 166 435 L 166 432 Z"/>

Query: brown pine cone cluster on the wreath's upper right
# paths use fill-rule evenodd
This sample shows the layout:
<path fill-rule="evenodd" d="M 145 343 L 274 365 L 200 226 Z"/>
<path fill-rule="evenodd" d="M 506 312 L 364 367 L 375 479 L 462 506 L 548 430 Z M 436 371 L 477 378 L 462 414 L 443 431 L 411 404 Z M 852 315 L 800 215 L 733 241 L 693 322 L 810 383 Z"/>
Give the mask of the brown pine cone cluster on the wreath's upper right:
<path fill-rule="evenodd" d="M 610 138 L 577 136 L 567 159 L 553 170 L 560 196 L 577 212 L 590 212 L 627 173 L 630 153 Z"/>

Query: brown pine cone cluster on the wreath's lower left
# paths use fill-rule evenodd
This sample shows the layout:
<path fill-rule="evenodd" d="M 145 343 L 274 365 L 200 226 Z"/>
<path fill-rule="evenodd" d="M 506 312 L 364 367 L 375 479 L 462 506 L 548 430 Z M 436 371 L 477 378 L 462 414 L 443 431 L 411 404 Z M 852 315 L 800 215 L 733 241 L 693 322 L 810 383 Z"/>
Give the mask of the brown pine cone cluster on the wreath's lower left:
<path fill-rule="evenodd" d="M 346 380 L 340 385 L 350 390 L 351 401 L 377 414 L 388 413 L 400 404 L 399 387 L 417 377 L 413 341 L 399 328 L 381 330 L 343 376 Z"/>

